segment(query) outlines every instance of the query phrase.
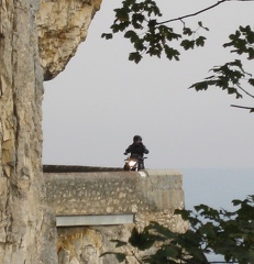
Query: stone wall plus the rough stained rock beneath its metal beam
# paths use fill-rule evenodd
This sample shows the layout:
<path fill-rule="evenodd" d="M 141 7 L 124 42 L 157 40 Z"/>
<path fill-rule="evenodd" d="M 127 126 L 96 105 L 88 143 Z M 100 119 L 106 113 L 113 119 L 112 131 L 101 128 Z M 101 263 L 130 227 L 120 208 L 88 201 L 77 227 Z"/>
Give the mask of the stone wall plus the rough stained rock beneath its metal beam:
<path fill-rule="evenodd" d="M 117 264 L 111 240 L 128 241 L 131 230 L 157 221 L 173 231 L 185 232 L 187 222 L 174 216 L 184 208 L 183 177 L 175 170 L 141 173 L 44 173 L 47 200 L 57 217 L 133 215 L 132 223 L 58 227 L 59 264 Z M 137 253 L 139 255 L 140 253 Z M 136 263 L 130 257 L 129 263 Z"/>

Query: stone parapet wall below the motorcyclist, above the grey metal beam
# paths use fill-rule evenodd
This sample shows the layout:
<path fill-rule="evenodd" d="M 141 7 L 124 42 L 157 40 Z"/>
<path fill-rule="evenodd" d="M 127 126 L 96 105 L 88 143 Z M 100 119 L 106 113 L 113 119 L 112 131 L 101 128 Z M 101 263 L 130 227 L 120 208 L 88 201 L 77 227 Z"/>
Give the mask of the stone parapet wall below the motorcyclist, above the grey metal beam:
<path fill-rule="evenodd" d="M 47 200 L 56 216 L 184 208 L 183 177 L 175 170 L 44 173 L 44 176 Z"/>

